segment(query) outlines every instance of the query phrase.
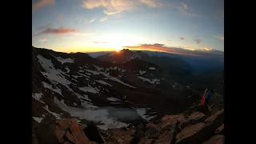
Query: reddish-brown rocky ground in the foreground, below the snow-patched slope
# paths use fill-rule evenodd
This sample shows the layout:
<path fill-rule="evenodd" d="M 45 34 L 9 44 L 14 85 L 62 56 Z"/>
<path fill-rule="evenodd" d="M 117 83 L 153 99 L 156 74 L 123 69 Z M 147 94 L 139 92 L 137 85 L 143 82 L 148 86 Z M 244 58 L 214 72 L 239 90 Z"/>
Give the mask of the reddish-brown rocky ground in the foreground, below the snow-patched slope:
<path fill-rule="evenodd" d="M 93 122 L 79 125 L 75 118 L 52 119 L 46 116 L 34 124 L 33 143 L 106 144 L 222 144 L 224 110 L 195 105 L 190 114 L 165 115 L 156 122 L 141 122 L 123 128 L 100 130 Z"/>

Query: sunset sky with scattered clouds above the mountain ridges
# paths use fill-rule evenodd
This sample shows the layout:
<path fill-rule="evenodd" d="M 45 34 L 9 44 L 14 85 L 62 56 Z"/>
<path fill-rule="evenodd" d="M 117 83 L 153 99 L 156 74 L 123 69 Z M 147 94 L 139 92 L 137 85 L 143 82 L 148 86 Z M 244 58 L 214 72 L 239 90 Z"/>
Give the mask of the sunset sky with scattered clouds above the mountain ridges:
<path fill-rule="evenodd" d="M 32 46 L 224 51 L 224 0 L 32 0 Z"/>

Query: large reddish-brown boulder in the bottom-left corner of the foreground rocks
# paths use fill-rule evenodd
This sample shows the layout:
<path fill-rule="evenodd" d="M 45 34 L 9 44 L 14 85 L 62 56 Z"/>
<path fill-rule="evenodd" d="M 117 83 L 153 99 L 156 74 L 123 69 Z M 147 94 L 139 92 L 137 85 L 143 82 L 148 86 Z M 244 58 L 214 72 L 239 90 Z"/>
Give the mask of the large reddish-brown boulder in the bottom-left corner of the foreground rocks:
<path fill-rule="evenodd" d="M 76 119 L 54 120 L 49 116 L 42 119 L 34 130 L 38 144 L 75 143 L 91 144 L 90 140 L 83 134 Z"/>

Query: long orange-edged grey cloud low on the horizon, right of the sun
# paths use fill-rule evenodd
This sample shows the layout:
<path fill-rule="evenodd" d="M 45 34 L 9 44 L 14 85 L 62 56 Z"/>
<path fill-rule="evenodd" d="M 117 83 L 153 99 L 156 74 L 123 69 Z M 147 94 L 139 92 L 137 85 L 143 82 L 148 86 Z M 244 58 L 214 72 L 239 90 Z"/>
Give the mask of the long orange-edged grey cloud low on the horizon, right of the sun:
<path fill-rule="evenodd" d="M 183 55 L 191 55 L 191 56 L 200 56 L 200 57 L 207 57 L 207 58 L 223 58 L 224 52 L 220 50 L 214 50 L 212 48 L 202 48 L 198 50 L 186 50 L 177 47 L 168 47 L 164 44 L 154 43 L 154 44 L 140 44 L 138 46 L 124 46 L 130 49 L 137 49 L 137 50 L 153 50 L 153 51 L 162 51 L 171 54 L 183 54 Z"/>

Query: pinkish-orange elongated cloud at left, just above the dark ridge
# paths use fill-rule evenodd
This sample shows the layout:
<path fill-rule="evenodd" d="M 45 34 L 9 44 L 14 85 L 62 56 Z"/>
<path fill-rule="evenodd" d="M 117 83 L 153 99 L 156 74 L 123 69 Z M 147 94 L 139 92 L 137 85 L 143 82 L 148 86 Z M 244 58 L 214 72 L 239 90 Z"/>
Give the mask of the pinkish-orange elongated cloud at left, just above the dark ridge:
<path fill-rule="evenodd" d="M 46 28 L 46 30 L 42 30 L 38 34 L 34 34 L 34 36 L 38 36 L 40 34 L 70 34 L 70 33 L 78 33 L 78 30 L 65 28 L 63 26 L 59 27 L 58 29 Z"/>

